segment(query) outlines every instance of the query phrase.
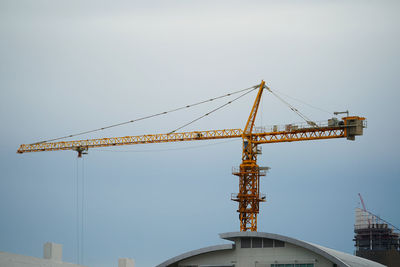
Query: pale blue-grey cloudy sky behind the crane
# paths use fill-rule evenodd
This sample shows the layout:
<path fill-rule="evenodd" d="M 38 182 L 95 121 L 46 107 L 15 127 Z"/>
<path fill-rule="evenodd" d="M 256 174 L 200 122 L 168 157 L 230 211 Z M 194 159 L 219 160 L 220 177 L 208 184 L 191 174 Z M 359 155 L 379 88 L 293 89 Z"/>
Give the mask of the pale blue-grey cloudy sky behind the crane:
<path fill-rule="evenodd" d="M 399 11 L 398 1 L 0 0 L 0 251 L 42 257 L 51 241 L 77 262 L 82 191 L 85 265 L 151 267 L 227 242 L 218 233 L 239 230 L 240 140 L 91 149 L 83 160 L 16 151 L 262 79 L 319 107 L 286 98 L 315 121 L 348 109 L 368 128 L 354 142 L 263 145 L 258 230 L 353 253 L 358 193 L 399 226 Z M 243 128 L 254 97 L 183 130 Z M 78 138 L 166 133 L 226 101 Z M 299 121 L 265 93 L 257 125 Z"/>

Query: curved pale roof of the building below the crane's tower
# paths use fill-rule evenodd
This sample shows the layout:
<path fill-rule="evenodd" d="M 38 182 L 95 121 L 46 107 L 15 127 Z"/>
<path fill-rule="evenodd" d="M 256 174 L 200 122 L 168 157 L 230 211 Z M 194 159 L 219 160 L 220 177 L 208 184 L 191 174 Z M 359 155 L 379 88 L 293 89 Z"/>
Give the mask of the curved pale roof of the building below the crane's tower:
<path fill-rule="evenodd" d="M 332 261 L 333 263 L 337 264 L 337 266 L 340 267 L 385 267 L 384 265 L 370 261 L 361 257 L 357 257 L 351 254 L 347 254 L 344 252 L 340 252 L 334 249 L 326 248 L 320 245 L 312 244 L 309 242 L 301 241 L 298 239 L 294 239 L 291 237 L 283 236 L 283 235 L 278 235 L 278 234 L 271 234 L 271 233 L 263 233 L 263 232 L 229 232 L 229 233 L 222 233 L 219 235 L 222 239 L 226 240 L 231 240 L 234 241 L 237 238 L 241 237 L 260 237 L 260 238 L 269 238 L 269 239 L 275 239 L 275 240 L 280 240 L 284 241 L 302 248 L 305 248 L 307 250 L 310 250 L 318 255 L 321 255 L 322 257 Z M 234 246 L 233 244 L 227 244 L 227 245 L 217 245 L 217 246 L 211 246 L 211 247 L 205 247 L 197 250 L 193 250 L 184 254 L 181 254 L 179 256 L 173 257 L 160 265 L 157 265 L 156 267 L 167 267 L 171 264 L 177 263 L 181 260 L 205 254 L 208 252 L 213 252 L 213 251 L 219 251 L 219 250 L 230 250 L 233 249 Z"/>

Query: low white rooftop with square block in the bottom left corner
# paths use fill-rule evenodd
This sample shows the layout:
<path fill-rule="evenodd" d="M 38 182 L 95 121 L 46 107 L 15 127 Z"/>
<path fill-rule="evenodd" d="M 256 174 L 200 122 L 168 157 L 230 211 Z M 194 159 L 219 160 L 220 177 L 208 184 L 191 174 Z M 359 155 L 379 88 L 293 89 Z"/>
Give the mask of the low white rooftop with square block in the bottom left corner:
<path fill-rule="evenodd" d="M 62 245 L 46 243 L 43 259 L 31 256 L 0 252 L 0 267 L 84 267 L 62 261 Z"/>

